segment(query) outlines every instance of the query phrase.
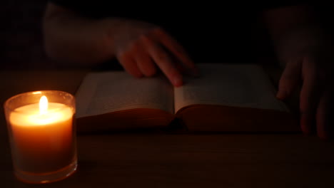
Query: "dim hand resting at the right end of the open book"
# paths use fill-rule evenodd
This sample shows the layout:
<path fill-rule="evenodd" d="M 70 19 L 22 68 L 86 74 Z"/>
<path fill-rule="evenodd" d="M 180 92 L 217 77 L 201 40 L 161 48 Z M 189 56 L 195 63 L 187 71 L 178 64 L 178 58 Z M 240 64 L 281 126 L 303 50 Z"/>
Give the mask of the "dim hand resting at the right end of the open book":
<path fill-rule="evenodd" d="M 277 97 L 288 98 L 295 87 L 302 83 L 301 129 L 307 135 L 316 130 L 320 138 L 328 139 L 334 130 L 333 48 L 323 40 L 308 39 L 310 37 L 294 35 L 285 42 L 281 60 L 286 65 Z"/>

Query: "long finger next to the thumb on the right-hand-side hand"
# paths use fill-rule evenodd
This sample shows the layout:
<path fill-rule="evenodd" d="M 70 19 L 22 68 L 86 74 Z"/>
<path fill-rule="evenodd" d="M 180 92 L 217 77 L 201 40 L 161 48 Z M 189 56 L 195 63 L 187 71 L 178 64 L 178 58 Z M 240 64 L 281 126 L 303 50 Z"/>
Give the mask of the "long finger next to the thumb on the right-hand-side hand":
<path fill-rule="evenodd" d="M 305 76 L 300 91 L 300 126 L 305 134 L 310 134 L 315 126 L 315 113 L 322 91 L 315 64 L 309 58 L 304 58 L 303 61 Z"/>

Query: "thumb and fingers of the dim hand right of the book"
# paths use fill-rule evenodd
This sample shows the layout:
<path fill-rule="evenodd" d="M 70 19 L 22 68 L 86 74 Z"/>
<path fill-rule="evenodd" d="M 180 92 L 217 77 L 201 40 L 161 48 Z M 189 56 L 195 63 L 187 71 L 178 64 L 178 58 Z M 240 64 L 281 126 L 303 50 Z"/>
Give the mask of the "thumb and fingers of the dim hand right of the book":
<path fill-rule="evenodd" d="M 280 78 L 277 97 L 288 97 L 298 85 L 300 77 L 303 78 L 300 127 L 306 135 L 316 131 L 318 137 L 328 139 L 333 136 L 334 130 L 331 117 L 334 109 L 333 88 L 328 84 L 330 81 L 326 77 L 326 71 L 315 60 L 312 56 L 306 56 L 301 61 L 288 63 Z"/>

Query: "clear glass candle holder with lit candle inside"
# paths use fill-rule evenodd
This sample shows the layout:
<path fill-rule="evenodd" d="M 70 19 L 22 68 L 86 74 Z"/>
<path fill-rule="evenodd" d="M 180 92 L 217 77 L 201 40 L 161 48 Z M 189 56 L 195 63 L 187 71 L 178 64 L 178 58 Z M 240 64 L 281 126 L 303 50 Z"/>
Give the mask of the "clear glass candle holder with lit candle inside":
<path fill-rule="evenodd" d="M 76 104 L 70 93 L 41 90 L 4 103 L 15 176 L 43 184 L 76 171 Z"/>

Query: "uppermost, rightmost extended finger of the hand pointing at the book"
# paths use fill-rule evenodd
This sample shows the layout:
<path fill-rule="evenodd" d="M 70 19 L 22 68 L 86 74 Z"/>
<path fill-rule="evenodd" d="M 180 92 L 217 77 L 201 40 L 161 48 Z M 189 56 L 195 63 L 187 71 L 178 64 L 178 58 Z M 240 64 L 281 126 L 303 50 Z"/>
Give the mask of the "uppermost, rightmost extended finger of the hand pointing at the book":
<path fill-rule="evenodd" d="M 171 51 L 171 53 L 173 53 L 173 55 L 176 56 L 178 60 L 180 60 L 182 63 L 181 66 L 186 69 L 186 73 L 194 76 L 198 75 L 198 69 L 196 68 L 195 64 L 193 61 L 191 61 L 191 58 L 188 56 L 186 51 L 174 38 L 168 35 L 168 33 L 163 31 L 161 28 L 156 28 L 153 31 L 153 36 L 156 38 L 156 40 L 158 40 L 158 42 L 162 43 L 163 46 L 166 46 L 166 48 Z"/>

